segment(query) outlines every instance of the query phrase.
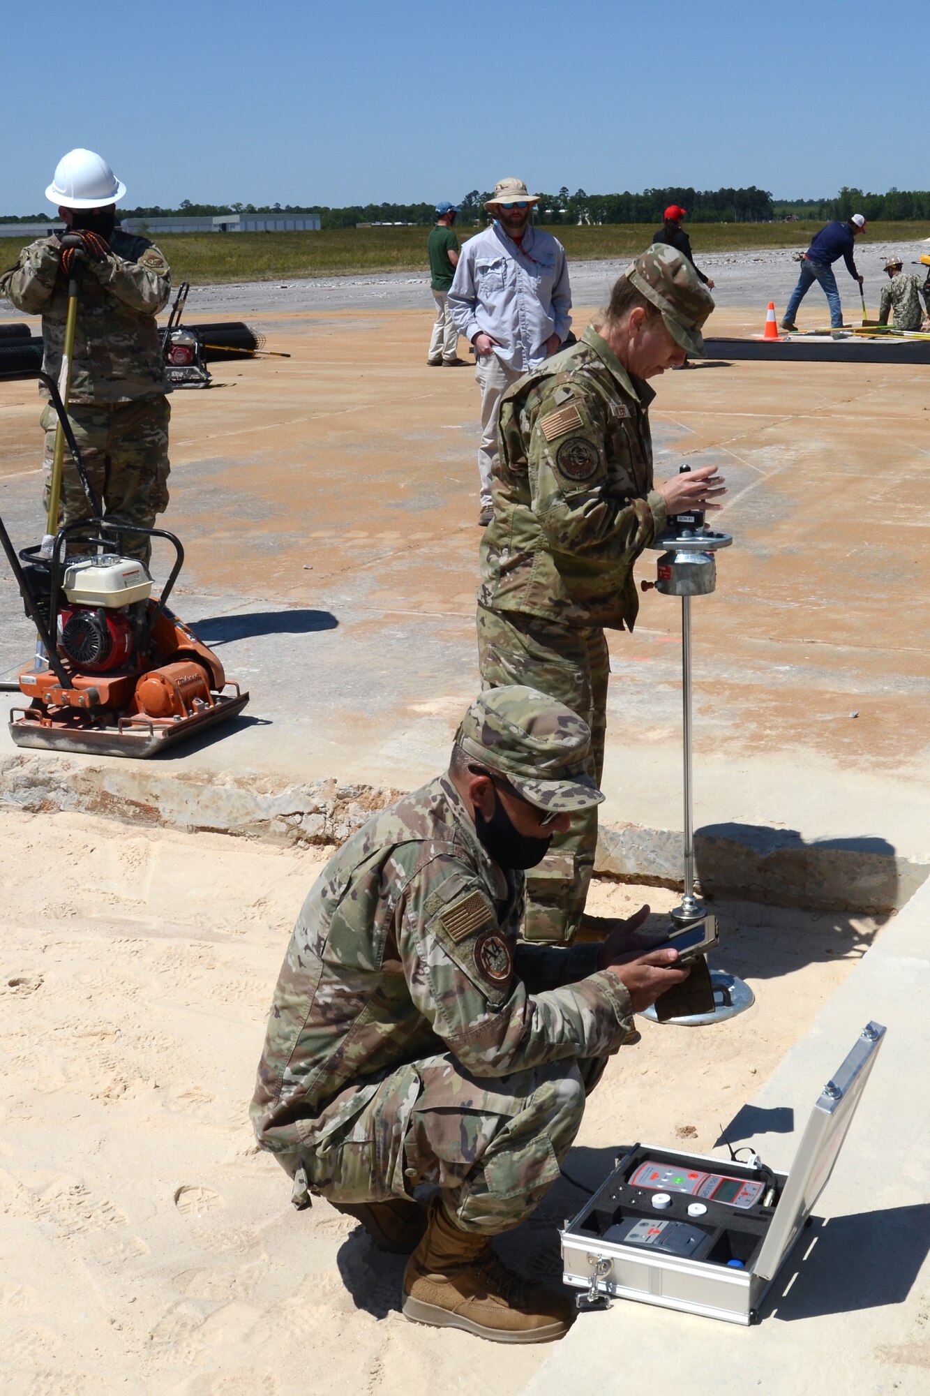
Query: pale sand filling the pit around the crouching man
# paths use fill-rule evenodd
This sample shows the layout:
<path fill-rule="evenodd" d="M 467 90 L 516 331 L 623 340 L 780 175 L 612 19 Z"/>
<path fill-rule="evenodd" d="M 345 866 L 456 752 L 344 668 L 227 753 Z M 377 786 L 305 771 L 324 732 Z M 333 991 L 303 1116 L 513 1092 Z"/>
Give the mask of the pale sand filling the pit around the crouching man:
<path fill-rule="evenodd" d="M 295 1213 L 256 1150 L 265 1013 L 318 866 L 221 835 L 0 812 L 4 1396 L 517 1393 L 545 1360 L 409 1325 L 402 1262 L 323 1202 Z M 673 900 L 600 884 L 591 905 L 626 914 L 647 898 Z M 719 912 L 719 960 L 755 1009 L 701 1030 L 642 1022 L 568 1157 L 581 1181 L 631 1136 L 718 1146 L 876 933 Z M 556 1279 L 554 1227 L 581 1201 L 560 1182 L 503 1249 Z"/>

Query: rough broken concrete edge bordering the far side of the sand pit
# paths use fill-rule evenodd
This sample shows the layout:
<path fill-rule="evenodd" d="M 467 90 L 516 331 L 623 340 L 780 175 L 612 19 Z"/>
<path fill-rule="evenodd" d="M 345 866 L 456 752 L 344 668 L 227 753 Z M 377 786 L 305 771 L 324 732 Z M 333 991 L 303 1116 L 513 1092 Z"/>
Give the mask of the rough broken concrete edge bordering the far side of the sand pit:
<path fill-rule="evenodd" d="M 0 807 L 35 814 L 77 811 L 290 847 L 342 843 L 402 793 L 335 778 L 282 786 L 254 771 L 233 775 L 20 754 L 0 759 Z M 804 843 L 795 831 L 716 825 L 698 831 L 694 842 L 705 895 L 809 910 L 892 912 L 930 871 L 898 857 L 880 839 Z M 602 826 L 595 868 L 623 881 L 680 886 L 681 832 Z"/>

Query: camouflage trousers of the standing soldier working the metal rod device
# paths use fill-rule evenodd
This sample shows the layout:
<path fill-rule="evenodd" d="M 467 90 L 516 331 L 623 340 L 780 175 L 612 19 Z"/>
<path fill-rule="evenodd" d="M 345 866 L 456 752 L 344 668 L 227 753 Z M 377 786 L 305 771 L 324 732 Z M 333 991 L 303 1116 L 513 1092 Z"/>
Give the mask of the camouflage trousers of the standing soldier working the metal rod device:
<path fill-rule="evenodd" d="M 478 607 L 482 688 L 528 684 L 564 702 L 591 727 L 588 773 L 600 785 L 607 729 L 610 655 L 603 631 L 560 625 L 522 611 Z M 560 944 L 578 930 L 598 847 L 598 808 L 573 817 L 549 853 L 526 872 L 524 938 Z"/>

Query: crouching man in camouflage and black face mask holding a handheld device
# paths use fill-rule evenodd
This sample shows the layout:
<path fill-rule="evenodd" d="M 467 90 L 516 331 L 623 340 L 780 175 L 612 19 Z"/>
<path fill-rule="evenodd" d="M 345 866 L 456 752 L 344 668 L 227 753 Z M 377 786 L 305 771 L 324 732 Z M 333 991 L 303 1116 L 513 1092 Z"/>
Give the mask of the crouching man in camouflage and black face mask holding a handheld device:
<path fill-rule="evenodd" d="M 644 952 L 648 907 L 600 945 L 517 942 L 522 870 L 600 793 L 589 733 L 532 688 L 482 694 L 448 771 L 374 815 L 297 919 L 251 1104 L 293 1178 L 409 1252 L 406 1318 L 546 1342 L 573 1308 L 492 1249 L 559 1177 L 631 1015 L 686 979 Z"/>

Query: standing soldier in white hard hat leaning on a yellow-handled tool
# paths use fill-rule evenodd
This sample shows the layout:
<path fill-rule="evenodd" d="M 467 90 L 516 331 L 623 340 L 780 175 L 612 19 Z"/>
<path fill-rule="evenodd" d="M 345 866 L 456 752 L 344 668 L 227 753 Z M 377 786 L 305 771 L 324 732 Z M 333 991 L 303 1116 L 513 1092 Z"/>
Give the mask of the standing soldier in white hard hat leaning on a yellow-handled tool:
<path fill-rule="evenodd" d="M 94 151 L 70 151 L 59 161 L 46 198 L 59 205 L 81 246 L 68 255 L 85 261 L 74 339 L 68 417 L 94 491 L 110 524 L 152 528 L 168 508 L 168 422 L 162 352 L 155 315 L 168 303 L 168 262 L 154 243 L 116 228 L 116 201 L 126 186 Z M 68 276 L 61 239 L 39 237 L 0 278 L 0 295 L 17 310 L 42 314 L 43 369 L 61 371 Z M 45 394 L 45 389 L 40 389 Z M 46 512 L 57 417 L 49 403 L 45 431 Z M 66 452 L 59 526 L 91 517 L 71 456 Z M 148 563 L 144 535 L 127 533 L 124 551 Z"/>

